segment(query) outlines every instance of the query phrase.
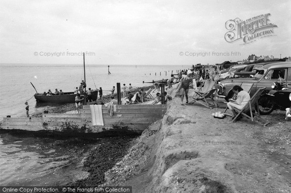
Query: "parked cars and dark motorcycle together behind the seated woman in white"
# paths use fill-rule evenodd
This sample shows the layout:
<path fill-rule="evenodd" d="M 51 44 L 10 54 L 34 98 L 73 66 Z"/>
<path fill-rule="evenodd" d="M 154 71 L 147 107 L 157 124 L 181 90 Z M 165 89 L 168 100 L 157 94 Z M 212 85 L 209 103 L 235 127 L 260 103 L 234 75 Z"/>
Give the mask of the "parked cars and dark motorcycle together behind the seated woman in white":
<path fill-rule="evenodd" d="M 227 102 L 234 95 L 233 86 L 248 82 L 254 83 L 250 96 L 259 88 L 266 88 L 258 100 L 260 114 L 291 107 L 291 62 L 237 65 L 230 68 L 228 74 L 218 84 L 218 94 L 223 95 Z"/>

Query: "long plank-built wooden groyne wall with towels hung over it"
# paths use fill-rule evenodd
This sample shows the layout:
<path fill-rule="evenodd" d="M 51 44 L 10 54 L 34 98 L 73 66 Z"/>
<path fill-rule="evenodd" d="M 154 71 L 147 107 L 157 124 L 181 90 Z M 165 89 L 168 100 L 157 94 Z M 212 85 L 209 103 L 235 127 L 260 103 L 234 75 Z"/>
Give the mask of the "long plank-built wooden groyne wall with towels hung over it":
<path fill-rule="evenodd" d="M 42 118 L 3 118 L 0 129 L 20 129 L 27 131 L 55 130 L 81 133 L 99 133 L 106 130 L 126 129 L 135 132 L 144 131 L 149 124 L 162 119 L 166 104 L 116 105 L 113 116 L 102 105 L 104 126 L 93 126 L 89 105 L 83 105 L 80 114 L 43 114 Z"/>

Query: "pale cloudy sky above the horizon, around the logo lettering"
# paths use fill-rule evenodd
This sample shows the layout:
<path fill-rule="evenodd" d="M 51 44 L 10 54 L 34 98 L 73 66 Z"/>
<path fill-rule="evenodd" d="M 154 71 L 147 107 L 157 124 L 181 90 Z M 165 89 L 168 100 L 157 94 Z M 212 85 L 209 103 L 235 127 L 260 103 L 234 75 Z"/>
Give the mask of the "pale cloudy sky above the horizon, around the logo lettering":
<path fill-rule="evenodd" d="M 271 14 L 272 36 L 226 22 Z M 291 0 L 1 0 L 0 63 L 192 65 L 291 56 Z"/>

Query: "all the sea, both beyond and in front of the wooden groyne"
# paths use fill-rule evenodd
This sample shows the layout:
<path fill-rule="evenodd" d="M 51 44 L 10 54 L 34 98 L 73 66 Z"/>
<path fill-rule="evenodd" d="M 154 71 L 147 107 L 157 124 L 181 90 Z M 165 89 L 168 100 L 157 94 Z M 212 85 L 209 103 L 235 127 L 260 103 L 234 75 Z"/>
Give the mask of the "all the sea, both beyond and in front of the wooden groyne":
<path fill-rule="evenodd" d="M 190 65 L 93 65 L 85 66 L 87 89 L 102 87 L 109 94 L 116 83 L 150 86 Z M 110 74 L 108 73 L 110 72 Z M 43 112 L 52 104 L 36 103 L 33 95 L 51 89 L 73 91 L 84 80 L 83 65 L 0 64 L 0 119 Z M 145 83 L 143 83 L 145 82 Z M 32 87 L 35 87 L 35 89 Z M 73 142 L 71 140 L 74 140 Z M 81 170 L 85 149 L 94 146 L 81 139 L 55 139 L 0 133 L 0 186 L 59 186 L 86 177 Z"/>

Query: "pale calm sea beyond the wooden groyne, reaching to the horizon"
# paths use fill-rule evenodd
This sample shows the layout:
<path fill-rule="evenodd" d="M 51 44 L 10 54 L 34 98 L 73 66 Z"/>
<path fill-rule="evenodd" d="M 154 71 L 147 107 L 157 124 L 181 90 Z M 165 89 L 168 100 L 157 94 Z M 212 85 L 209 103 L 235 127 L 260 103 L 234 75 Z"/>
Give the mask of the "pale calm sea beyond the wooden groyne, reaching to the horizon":
<path fill-rule="evenodd" d="M 108 74 L 107 65 L 87 65 L 86 83 L 87 89 L 102 87 L 103 94 L 110 93 L 109 90 L 116 83 L 121 85 L 129 83 L 133 87 L 149 86 L 143 81 L 150 82 L 162 78 L 169 78 L 171 71 L 176 74 L 177 70 L 190 66 L 124 66 L 111 65 Z M 167 71 L 167 76 L 165 75 Z M 162 75 L 160 76 L 160 72 Z M 155 73 L 157 75 L 155 76 Z M 151 74 L 151 75 L 150 75 Z M 73 91 L 79 87 L 83 80 L 82 65 L 29 65 L 29 64 L 1 64 L 0 65 L 0 118 L 11 115 L 11 117 L 25 116 L 25 101 L 29 100 L 30 113 L 42 112 L 43 106 L 36 106 L 33 97 L 35 86 L 37 92 L 51 89 L 62 89 L 64 92 Z M 34 78 L 36 77 L 36 78 Z"/>

